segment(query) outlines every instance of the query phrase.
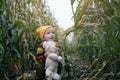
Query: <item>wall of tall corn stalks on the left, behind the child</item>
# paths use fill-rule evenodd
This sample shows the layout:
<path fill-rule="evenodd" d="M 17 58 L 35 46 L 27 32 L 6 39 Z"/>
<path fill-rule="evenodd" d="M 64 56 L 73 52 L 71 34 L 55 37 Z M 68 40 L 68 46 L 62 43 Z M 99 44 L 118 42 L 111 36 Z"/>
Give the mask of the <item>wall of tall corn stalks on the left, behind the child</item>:
<path fill-rule="evenodd" d="M 15 79 L 34 69 L 40 43 L 37 27 L 57 27 L 49 7 L 42 0 L 0 1 L 0 79 Z"/>

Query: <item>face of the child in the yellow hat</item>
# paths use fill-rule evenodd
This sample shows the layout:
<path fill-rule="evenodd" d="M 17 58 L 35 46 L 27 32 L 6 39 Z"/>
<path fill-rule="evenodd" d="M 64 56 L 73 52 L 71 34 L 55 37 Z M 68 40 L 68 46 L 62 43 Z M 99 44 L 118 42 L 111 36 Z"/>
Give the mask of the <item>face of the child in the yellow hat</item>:
<path fill-rule="evenodd" d="M 55 40 L 55 31 L 53 28 L 48 28 L 44 34 L 45 41 L 54 41 Z"/>

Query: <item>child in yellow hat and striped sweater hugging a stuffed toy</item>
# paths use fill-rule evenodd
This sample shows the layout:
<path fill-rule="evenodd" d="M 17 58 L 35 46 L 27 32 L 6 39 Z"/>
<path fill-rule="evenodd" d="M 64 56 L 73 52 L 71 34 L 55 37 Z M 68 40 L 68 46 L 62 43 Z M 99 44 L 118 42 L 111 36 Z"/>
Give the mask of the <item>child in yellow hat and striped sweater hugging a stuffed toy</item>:
<path fill-rule="evenodd" d="M 38 63 L 35 65 L 36 77 L 39 80 L 45 80 L 45 60 L 46 60 L 46 57 L 50 54 L 50 52 L 45 51 L 45 49 L 43 48 L 43 42 L 55 41 L 55 30 L 52 26 L 48 25 L 48 26 L 42 26 L 37 28 L 36 32 L 39 34 L 40 39 L 42 40 L 42 43 L 37 49 L 38 55 L 36 56 L 36 60 Z M 59 47 L 57 42 L 55 43 L 56 43 L 56 46 Z M 59 52 L 59 55 L 60 55 L 60 52 Z M 61 63 L 59 63 L 58 73 L 61 71 L 61 69 L 62 69 Z"/>

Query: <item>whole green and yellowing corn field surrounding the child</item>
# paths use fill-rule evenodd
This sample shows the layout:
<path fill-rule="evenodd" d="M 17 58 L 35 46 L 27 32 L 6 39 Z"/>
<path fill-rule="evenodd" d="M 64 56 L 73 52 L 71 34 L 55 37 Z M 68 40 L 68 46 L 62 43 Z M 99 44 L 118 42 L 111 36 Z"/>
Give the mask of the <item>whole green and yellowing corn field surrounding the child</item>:
<path fill-rule="evenodd" d="M 119 80 L 120 1 L 71 0 L 74 25 L 65 31 L 46 2 L 0 1 L 0 80 L 34 80 L 34 56 L 41 42 L 35 31 L 42 25 L 57 30 L 65 59 L 62 80 Z"/>

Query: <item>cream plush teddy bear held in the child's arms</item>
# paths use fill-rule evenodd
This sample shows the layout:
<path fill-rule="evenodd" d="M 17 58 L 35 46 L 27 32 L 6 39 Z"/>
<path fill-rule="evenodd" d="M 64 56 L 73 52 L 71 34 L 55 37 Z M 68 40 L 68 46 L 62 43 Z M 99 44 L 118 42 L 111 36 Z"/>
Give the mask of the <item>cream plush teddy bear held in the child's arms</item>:
<path fill-rule="evenodd" d="M 43 48 L 50 54 L 46 57 L 45 69 L 47 80 L 61 80 L 61 76 L 57 73 L 58 62 L 63 64 L 63 58 L 59 56 L 58 47 L 54 41 L 44 41 Z"/>

